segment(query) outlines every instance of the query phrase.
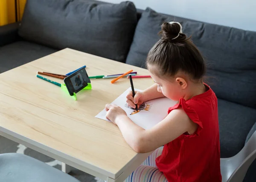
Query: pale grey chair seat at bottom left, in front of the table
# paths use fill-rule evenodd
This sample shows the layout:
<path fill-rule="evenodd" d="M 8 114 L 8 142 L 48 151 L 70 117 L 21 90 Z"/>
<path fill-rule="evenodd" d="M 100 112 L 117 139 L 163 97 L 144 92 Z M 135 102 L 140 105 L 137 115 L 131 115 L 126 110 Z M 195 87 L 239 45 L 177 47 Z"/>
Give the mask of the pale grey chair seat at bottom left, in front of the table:
<path fill-rule="evenodd" d="M 17 153 L 0 154 L 0 182 L 80 182 L 44 162 Z"/>

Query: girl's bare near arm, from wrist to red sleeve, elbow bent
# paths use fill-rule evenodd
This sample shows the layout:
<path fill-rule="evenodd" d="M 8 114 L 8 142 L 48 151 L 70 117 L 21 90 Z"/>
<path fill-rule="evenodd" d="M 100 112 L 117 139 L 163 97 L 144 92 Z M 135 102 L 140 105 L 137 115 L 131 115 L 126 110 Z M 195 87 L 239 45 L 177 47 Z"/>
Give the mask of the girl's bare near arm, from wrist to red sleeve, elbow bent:
<path fill-rule="evenodd" d="M 125 141 L 137 153 L 154 151 L 185 132 L 193 134 L 198 127 L 182 108 L 171 111 L 165 119 L 149 130 L 144 130 L 125 115 L 116 117 L 115 123 Z"/>

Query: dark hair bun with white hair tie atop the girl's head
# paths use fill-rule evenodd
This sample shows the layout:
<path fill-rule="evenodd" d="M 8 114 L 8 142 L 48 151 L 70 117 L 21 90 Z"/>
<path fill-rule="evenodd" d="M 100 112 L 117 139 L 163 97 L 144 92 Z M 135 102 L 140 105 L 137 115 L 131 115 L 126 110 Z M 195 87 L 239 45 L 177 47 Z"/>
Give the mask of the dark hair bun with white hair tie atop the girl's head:
<path fill-rule="evenodd" d="M 170 42 L 179 42 L 186 40 L 186 35 L 182 32 L 182 26 L 179 22 L 164 22 L 161 26 L 160 34 L 163 40 Z"/>

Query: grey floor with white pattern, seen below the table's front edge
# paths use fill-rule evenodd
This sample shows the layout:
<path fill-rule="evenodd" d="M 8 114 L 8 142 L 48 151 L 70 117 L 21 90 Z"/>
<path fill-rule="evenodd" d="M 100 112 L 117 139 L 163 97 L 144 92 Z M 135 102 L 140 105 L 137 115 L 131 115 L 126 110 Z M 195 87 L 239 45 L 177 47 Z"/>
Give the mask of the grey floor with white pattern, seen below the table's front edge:
<path fill-rule="evenodd" d="M 59 162 L 58 160 L 52 159 L 30 148 L 26 148 L 24 145 L 20 145 L 12 140 L 0 136 L 0 154 L 13 152 L 34 157 L 35 159 L 41 160 L 42 162 L 45 162 L 48 165 L 61 170 L 61 162 Z M 79 181 L 81 182 L 104 182 L 101 179 L 98 179 L 94 176 L 91 176 L 90 174 L 84 173 L 72 167 L 69 174 L 71 176 L 74 176 L 76 179 L 79 179 Z"/>

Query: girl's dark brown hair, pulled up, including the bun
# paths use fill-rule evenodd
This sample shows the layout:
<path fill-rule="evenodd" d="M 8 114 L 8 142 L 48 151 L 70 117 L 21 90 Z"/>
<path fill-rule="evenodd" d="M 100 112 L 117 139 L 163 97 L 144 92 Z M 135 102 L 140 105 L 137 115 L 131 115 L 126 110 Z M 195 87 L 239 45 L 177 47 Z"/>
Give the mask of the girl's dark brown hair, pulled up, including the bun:
<path fill-rule="evenodd" d="M 150 70 L 158 77 L 175 76 L 178 71 L 189 74 L 192 80 L 201 80 L 206 64 L 190 37 L 181 33 L 179 23 L 163 23 L 159 34 L 162 38 L 148 52 L 146 64 L 156 66 Z"/>

